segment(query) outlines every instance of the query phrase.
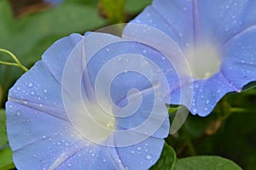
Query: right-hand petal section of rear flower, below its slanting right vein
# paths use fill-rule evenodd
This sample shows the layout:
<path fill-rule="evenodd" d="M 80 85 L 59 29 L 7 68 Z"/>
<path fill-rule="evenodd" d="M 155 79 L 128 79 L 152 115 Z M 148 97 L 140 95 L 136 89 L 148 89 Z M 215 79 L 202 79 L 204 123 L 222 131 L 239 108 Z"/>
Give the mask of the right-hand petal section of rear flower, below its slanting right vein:
<path fill-rule="evenodd" d="M 256 26 L 251 26 L 223 46 L 225 53 L 222 72 L 238 92 L 248 82 L 256 80 L 255 38 Z"/>

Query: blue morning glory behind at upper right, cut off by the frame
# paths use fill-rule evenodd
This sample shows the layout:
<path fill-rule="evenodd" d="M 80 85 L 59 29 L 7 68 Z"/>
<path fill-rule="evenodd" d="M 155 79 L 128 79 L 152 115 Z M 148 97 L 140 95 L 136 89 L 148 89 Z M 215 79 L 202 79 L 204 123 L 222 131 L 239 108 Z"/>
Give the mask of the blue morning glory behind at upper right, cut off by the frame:
<path fill-rule="evenodd" d="M 164 38 L 155 36 L 155 30 L 172 39 L 189 64 L 187 77 L 192 81 L 171 88 L 170 103 L 207 116 L 225 94 L 241 92 L 256 80 L 255 7 L 253 0 L 154 0 L 125 27 L 123 37 L 166 49 Z M 179 59 L 179 55 L 166 58 Z M 191 105 L 179 102 L 181 88 L 193 88 Z"/>

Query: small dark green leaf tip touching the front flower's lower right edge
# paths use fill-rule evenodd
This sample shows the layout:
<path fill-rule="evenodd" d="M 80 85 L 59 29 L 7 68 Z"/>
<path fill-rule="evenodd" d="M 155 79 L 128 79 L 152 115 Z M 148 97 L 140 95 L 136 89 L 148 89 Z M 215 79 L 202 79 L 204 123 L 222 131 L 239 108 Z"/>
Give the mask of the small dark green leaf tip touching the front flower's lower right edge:
<path fill-rule="evenodd" d="M 176 154 L 171 146 L 165 143 L 160 159 L 150 170 L 172 170 L 176 162 Z"/>

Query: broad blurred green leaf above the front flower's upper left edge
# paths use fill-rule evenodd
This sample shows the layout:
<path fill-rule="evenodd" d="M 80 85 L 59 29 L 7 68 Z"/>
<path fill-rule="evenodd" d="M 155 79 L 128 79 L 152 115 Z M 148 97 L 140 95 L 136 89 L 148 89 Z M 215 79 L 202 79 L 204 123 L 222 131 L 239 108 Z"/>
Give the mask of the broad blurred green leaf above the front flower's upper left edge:
<path fill-rule="evenodd" d="M 96 8 L 64 3 L 56 8 L 23 17 L 17 26 L 19 33 L 12 47 L 19 47 L 14 48 L 14 52 L 21 54 L 21 61 L 32 64 L 41 56 L 33 56 L 30 52 L 43 38 L 55 35 L 60 38 L 73 32 L 84 34 L 84 31 L 95 30 L 104 24 L 106 21 L 97 14 Z"/>

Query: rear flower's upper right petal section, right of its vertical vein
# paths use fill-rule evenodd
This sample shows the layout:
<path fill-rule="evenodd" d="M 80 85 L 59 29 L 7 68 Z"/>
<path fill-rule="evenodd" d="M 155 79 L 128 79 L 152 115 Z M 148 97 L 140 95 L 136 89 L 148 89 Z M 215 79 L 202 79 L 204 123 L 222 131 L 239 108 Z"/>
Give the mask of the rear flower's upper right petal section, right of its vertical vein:
<path fill-rule="evenodd" d="M 237 32 L 255 24 L 256 2 L 252 0 L 235 1 L 197 1 L 199 38 L 211 38 L 212 42 L 223 44 Z"/>

